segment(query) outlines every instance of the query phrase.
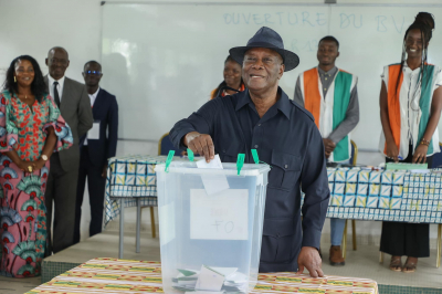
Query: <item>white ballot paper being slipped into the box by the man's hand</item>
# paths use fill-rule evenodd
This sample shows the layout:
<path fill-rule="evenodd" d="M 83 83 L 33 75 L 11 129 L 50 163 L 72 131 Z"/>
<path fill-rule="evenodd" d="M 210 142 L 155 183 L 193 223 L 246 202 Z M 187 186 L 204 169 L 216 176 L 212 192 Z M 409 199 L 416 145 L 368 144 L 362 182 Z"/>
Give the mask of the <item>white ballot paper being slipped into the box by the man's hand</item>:
<path fill-rule="evenodd" d="M 206 159 L 201 159 L 197 161 L 197 167 L 222 169 L 220 156 L 217 154 L 214 158 L 210 160 L 210 162 L 207 162 Z M 202 175 L 201 179 L 202 179 L 202 185 L 204 185 L 207 195 L 215 195 L 218 192 L 229 189 L 228 179 L 223 175 Z"/>

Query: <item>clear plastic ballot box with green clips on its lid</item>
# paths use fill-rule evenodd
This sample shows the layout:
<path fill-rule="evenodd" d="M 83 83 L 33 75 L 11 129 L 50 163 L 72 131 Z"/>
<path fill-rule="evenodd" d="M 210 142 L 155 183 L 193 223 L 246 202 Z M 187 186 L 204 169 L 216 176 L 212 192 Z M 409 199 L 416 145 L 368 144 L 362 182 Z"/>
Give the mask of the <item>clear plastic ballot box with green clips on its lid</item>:
<path fill-rule="evenodd" d="M 222 166 L 156 166 L 165 293 L 249 293 L 256 284 L 270 167 L 245 164 L 238 176 L 235 164 Z"/>

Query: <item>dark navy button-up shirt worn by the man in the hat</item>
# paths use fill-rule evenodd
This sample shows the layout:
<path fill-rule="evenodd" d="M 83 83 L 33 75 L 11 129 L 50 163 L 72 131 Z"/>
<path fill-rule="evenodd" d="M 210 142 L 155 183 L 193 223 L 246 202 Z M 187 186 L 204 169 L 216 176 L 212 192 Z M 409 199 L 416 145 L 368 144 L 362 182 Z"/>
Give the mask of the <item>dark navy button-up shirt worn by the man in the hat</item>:
<path fill-rule="evenodd" d="M 249 91 L 206 103 L 170 130 L 185 149 L 190 132 L 209 134 L 223 162 L 236 162 L 251 149 L 272 169 L 269 174 L 260 272 L 297 271 L 301 246 L 319 249 L 329 189 L 323 138 L 313 116 L 278 88 L 281 98 L 260 118 Z M 301 221 L 301 188 L 305 193 Z"/>

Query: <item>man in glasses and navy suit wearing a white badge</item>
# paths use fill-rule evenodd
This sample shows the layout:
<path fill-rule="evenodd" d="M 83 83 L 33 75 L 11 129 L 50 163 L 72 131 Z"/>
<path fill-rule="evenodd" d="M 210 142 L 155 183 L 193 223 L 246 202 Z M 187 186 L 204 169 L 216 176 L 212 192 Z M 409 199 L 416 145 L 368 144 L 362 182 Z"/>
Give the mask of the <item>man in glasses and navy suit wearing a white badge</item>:
<path fill-rule="evenodd" d="M 83 77 L 91 98 L 94 126 L 80 139 L 80 171 L 75 207 L 74 242 L 80 242 L 82 203 L 87 177 L 91 203 L 90 237 L 102 232 L 107 159 L 115 156 L 118 139 L 118 104 L 114 95 L 99 87 L 102 65 L 90 61 Z M 106 132 L 108 136 L 106 136 Z"/>

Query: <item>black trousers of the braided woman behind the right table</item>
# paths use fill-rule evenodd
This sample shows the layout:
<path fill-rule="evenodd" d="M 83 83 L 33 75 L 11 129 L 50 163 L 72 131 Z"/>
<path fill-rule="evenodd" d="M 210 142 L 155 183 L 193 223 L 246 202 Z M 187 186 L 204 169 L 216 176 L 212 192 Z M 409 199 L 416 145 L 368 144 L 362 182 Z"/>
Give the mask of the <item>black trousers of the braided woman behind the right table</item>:
<path fill-rule="evenodd" d="M 400 162 L 411 162 L 412 146 L 409 154 Z M 432 157 L 427 157 L 429 168 L 432 166 Z M 386 162 L 392 162 L 386 158 Z M 382 234 L 380 238 L 380 251 L 390 255 L 428 258 L 430 256 L 430 224 L 429 223 L 408 223 L 408 222 L 382 222 Z"/>

